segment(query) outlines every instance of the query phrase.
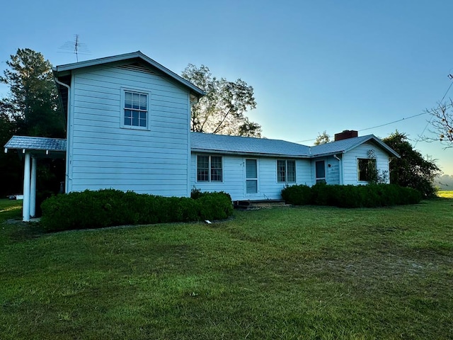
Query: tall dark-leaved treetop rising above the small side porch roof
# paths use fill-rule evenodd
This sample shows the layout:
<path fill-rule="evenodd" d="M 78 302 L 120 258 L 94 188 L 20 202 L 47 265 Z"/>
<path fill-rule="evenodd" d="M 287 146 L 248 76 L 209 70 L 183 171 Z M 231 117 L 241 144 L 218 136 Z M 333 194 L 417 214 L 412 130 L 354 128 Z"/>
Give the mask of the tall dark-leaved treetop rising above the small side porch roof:
<path fill-rule="evenodd" d="M 43 55 L 28 48 L 18 49 L 6 62 L 0 82 L 10 86 L 10 94 L 0 101 L 1 113 L 16 125 L 21 135 L 65 137 L 64 116 L 59 108 L 52 65 Z"/>

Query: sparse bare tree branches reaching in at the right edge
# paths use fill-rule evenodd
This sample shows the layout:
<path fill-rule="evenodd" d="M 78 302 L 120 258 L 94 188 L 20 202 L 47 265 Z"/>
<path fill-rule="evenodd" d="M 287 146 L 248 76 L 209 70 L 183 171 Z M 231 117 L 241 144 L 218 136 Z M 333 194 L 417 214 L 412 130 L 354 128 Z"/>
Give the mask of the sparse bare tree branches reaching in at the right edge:
<path fill-rule="evenodd" d="M 425 140 L 439 140 L 447 147 L 453 147 L 453 100 L 450 103 L 441 103 L 438 108 L 428 111 L 431 115 L 430 123 L 437 136 L 436 138 L 425 137 Z"/>

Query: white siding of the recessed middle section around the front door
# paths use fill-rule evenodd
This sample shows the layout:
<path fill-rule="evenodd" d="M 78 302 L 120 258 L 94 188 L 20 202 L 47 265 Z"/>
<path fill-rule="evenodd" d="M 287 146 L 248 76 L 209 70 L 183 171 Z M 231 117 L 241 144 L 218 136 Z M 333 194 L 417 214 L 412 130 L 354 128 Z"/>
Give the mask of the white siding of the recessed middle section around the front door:
<path fill-rule="evenodd" d="M 192 154 L 190 183 L 191 188 L 201 191 L 225 191 L 232 200 L 276 200 L 282 198 L 282 189 L 285 183 L 277 182 L 277 159 L 268 157 L 242 157 L 222 155 L 223 181 L 222 182 L 197 182 L 197 154 Z M 258 159 L 258 193 L 246 194 L 245 188 L 245 159 Z M 309 184 L 311 169 L 309 159 L 296 160 L 296 181 L 292 184 Z"/>

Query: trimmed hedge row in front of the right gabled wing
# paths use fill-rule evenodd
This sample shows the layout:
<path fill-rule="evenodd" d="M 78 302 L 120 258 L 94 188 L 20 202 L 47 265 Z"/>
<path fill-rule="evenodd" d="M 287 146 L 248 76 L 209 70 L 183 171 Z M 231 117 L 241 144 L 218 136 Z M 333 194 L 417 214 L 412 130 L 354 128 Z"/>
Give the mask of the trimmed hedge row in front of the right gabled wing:
<path fill-rule="evenodd" d="M 294 205 L 333 205 L 340 208 L 377 208 L 415 204 L 422 200 L 419 191 L 396 184 L 338 186 L 317 183 L 314 186 L 288 186 L 282 198 Z"/>

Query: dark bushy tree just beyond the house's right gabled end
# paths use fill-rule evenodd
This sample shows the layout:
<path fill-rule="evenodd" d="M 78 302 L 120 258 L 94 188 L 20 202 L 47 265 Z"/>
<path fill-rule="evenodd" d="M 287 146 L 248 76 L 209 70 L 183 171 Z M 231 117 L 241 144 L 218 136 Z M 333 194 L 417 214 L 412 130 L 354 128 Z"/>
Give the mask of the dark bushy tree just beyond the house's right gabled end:
<path fill-rule="evenodd" d="M 390 182 L 417 189 L 425 198 L 435 196 L 434 179 L 440 174 L 435 161 L 414 150 L 404 133 L 396 131 L 383 141 L 401 156 L 390 163 Z"/>

